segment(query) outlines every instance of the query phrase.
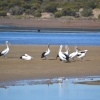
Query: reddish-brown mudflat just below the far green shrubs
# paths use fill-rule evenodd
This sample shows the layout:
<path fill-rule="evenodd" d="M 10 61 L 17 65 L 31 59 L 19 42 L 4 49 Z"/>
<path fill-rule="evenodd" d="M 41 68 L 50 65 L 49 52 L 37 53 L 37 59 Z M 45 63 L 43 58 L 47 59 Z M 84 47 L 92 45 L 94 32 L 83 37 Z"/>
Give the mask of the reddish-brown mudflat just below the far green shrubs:
<path fill-rule="evenodd" d="M 0 25 L 29 27 L 33 29 L 100 30 L 99 20 L 69 19 L 9 19 L 0 18 Z M 18 29 L 18 28 L 17 28 Z M 25 28 L 24 28 L 25 29 Z"/>

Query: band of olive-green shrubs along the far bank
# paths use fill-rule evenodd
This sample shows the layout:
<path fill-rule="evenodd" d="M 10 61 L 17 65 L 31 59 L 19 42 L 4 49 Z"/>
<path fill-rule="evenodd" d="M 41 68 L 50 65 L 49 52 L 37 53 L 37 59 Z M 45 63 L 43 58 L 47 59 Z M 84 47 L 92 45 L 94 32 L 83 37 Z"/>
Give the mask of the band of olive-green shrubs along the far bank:
<path fill-rule="evenodd" d="M 0 16 L 6 16 L 9 12 L 11 15 L 41 17 L 42 12 L 50 12 L 55 17 L 76 17 L 80 8 L 83 8 L 82 16 L 91 16 L 93 9 L 100 9 L 100 0 L 0 0 Z"/>

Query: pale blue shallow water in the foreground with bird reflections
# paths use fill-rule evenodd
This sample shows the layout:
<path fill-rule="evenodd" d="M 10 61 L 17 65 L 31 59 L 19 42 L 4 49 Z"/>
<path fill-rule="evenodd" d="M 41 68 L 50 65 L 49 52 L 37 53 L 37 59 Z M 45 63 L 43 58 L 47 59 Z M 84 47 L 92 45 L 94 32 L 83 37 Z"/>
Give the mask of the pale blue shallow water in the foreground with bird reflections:
<path fill-rule="evenodd" d="M 100 77 L 70 78 L 57 82 L 51 79 L 53 84 L 45 84 L 44 81 L 33 80 L 20 81 L 18 86 L 0 88 L 0 100 L 99 100 L 100 85 L 74 84 L 76 81 L 100 80 Z M 55 82 L 56 81 L 56 82 Z M 29 83 L 32 83 L 29 85 Z M 38 84 L 36 84 L 36 82 Z M 43 83 L 42 83 L 43 82 Z"/>

